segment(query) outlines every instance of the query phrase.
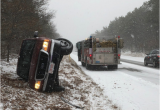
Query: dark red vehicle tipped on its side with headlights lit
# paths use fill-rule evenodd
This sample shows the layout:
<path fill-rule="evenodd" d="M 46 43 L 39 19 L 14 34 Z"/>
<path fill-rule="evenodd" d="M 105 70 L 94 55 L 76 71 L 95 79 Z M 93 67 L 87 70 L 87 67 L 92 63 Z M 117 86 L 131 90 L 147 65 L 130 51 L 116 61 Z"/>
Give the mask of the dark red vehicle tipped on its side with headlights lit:
<path fill-rule="evenodd" d="M 64 38 L 35 37 L 22 42 L 17 75 L 38 91 L 64 91 L 59 85 L 58 69 L 63 56 L 72 52 L 73 44 Z"/>

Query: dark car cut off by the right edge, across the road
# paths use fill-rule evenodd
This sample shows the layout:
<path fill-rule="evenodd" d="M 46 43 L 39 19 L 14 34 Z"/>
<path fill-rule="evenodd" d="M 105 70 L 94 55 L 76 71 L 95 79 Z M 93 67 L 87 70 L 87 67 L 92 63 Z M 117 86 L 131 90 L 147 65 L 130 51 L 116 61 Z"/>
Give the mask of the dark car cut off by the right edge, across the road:
<path fill-rule="evenodd" d="M 152 50 L 149 54 L 144 58 L 144 65 L 147 66 L 148 64 L 153 64 L 153 67 L 159 66 L 160 62 L 160 54 L 159 50 L 155 49 Z"/>

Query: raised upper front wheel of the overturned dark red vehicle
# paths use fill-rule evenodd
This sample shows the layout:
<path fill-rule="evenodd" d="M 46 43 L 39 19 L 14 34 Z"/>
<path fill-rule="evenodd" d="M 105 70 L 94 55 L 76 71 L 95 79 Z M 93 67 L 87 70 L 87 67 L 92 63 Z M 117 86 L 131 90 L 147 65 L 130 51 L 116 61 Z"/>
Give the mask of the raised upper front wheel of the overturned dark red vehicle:
<path fill-rule="evenodd" d="M 72 50 L 73 50 L 73 44 L 69 40 L 64 39 L 64 38 L 58 38 L 56 40 L 60 41 L 60 44 L 61 44 L 61 54 L 68 55 L 68 54 L 70 54 L 72 52 Z"/>

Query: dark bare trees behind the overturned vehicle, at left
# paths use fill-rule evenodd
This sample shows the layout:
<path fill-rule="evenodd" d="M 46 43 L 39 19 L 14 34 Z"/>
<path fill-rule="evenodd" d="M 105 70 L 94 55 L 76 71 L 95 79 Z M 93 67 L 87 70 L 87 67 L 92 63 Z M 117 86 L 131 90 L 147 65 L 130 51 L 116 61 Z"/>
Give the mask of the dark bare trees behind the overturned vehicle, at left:
<path fill-rule="evenodd" d="M 47 0 L 1 0 L 1 58 L 18 53 L 21 42 L 32 38 L 34 31 L 39 36 L 58 38 L 51 22 L 54 11 L 47 11 Z"/>

